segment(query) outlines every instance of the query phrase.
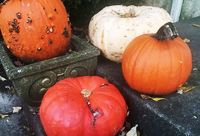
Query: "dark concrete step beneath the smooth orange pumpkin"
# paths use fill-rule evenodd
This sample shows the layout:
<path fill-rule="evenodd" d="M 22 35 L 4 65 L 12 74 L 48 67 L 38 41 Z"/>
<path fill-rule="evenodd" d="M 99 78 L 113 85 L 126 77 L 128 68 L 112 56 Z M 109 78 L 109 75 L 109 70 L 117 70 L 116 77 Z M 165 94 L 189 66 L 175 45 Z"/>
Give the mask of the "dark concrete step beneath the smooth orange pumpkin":
<path fill-rule="evenodd" d="M 200 135 L 200 17 L 175 24 L 182 39 L 188 43 L 193 56 L 193 70 L 187 86 L 198 86 L 190 92 L 176 92 L 164 96 L 166 100 L 144 100 L 126 83 L 121 64 L 99 57 L 96 74 L 106 77 L 119 88 L 127 101 L 132 126 L 138 124 L 142 136 L 198 136 Z"/>

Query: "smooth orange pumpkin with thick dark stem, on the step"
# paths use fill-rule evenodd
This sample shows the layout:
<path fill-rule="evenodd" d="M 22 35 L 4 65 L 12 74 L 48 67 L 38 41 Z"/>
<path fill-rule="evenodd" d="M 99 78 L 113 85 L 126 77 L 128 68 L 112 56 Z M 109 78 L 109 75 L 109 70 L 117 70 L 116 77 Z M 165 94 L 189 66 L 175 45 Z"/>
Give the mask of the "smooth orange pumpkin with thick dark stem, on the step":
<path fill-rule="evenodd" d="M 172 23 L 156 34 L 133 39 L 124 51 L 122 71 L 128 85 L 145 94 L 168 95 L 190 76 L 192 54 Z"/>

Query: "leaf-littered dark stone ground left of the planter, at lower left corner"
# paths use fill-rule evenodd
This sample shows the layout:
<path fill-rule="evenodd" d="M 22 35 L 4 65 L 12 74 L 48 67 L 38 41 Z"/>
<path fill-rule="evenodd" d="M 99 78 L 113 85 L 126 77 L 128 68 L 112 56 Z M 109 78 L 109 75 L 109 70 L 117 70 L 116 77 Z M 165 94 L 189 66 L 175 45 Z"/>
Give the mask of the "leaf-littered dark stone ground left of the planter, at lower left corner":
<path fill-rule="evenodd" d="M 0 64 L 0 136 L 28 136 L 32 134 L 29 123 L 24 117 L 23 102 L 15 92 L 12 83 L 6 77 Z M 13 113 L 13 107 L 22 107 L 19 113 Z"/>

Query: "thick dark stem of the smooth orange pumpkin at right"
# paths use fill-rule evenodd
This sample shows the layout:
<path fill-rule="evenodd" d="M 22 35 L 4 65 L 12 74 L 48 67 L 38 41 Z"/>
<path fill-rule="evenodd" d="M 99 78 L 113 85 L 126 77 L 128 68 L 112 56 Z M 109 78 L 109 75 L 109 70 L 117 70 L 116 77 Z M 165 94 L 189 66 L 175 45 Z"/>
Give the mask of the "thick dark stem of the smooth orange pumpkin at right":
<path fill-rule="evenodd" d="M 178 37 L 178 32 L 173 23 L 168 22 L 160 27 L 157 33 L 152 35 L 151 37 L 156 38 L 159 41 L 174 40 Z"/>

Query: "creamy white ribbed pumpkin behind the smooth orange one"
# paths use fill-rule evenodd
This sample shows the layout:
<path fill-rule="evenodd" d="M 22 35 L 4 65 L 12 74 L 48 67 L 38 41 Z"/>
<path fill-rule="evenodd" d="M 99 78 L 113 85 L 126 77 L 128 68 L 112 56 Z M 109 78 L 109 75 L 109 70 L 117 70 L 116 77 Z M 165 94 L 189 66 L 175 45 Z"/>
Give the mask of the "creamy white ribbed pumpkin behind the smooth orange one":
<path fill-rule="evenodd" d="M 106 58 L 121 62 L 130 41 L 142 34 L 156 33 L 167 22 L 172 22 L 171 16 L 159 7 L 108 6 L 92 17 L 89 37 Z"/>

